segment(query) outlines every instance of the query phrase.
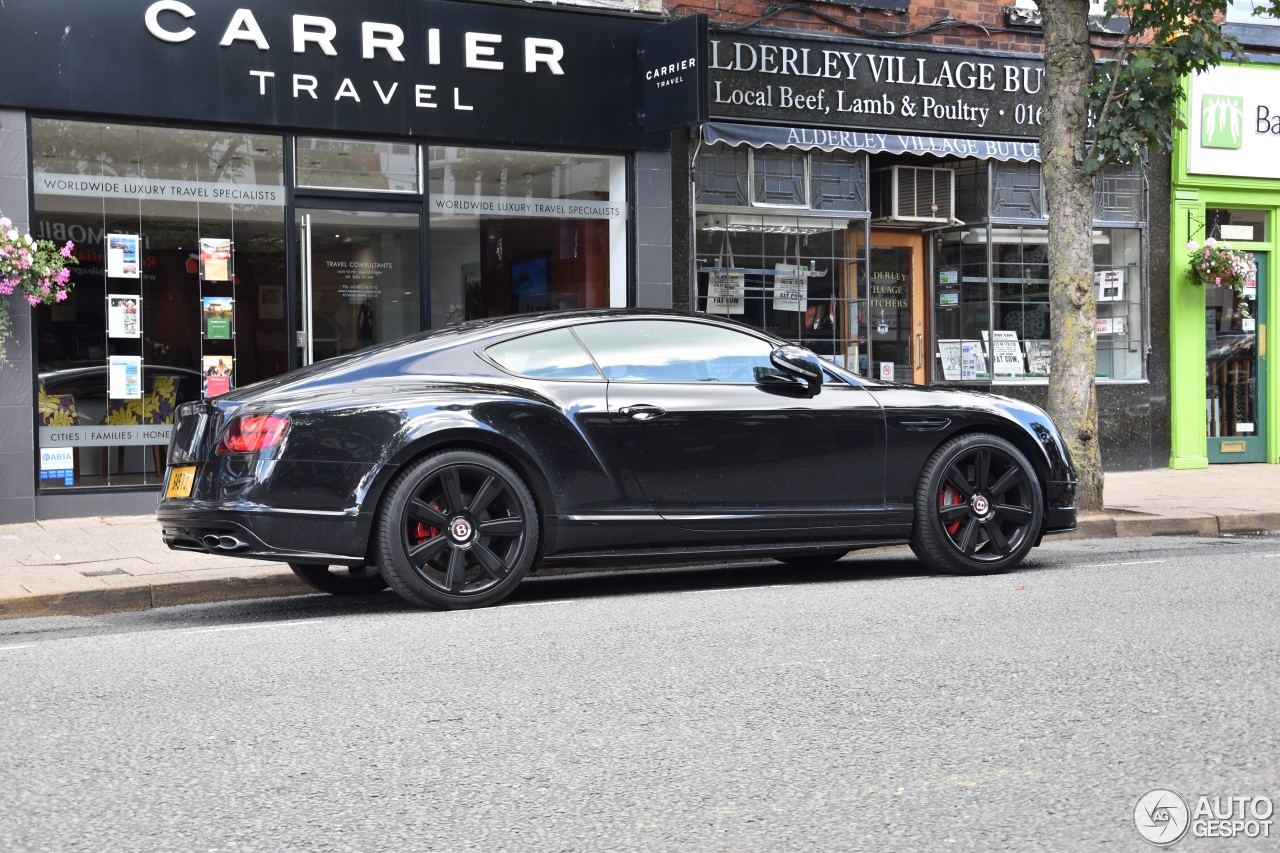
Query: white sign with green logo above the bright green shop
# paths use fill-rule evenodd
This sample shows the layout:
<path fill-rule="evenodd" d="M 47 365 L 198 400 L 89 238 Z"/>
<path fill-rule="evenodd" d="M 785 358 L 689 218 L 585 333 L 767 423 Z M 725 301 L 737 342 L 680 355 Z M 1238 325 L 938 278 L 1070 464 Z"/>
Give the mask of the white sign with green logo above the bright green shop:
<path fill-rule="evenodd" d="M 1280 178 L 1280 70 L 1222 65 L 1188 87 L 1187 172 Z"/>

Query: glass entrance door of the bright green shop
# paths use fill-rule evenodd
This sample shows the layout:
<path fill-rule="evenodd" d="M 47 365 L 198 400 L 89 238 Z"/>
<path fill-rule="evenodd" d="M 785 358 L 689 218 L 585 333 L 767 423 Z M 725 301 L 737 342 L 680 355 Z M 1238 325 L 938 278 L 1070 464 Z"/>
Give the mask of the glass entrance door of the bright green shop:
<path fill-rule="evenodd" d="M 1238 295 L 1204 288 L 1204 416 L 1210 462 L 1266 461 L 1266 350 L 1260 318 L 1267 307 L 1267 256 L 1254 252 L 1257 288 Z"/>

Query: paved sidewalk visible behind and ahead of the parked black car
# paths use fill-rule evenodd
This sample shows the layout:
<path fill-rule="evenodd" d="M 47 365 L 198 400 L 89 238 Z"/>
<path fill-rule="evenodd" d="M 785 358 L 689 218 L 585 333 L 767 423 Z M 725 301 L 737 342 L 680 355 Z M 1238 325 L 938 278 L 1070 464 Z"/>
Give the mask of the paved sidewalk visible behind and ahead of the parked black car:
<path fill-rule="evenodd" d="M 1106 475 L 1106 512 L 1071 538 L 1280 532 L 1280 466 L 1212 465 Z M 154 516 L 0 525 L 0 619 L 87 616 L 302 596 L 279 562 L 170 551 Z"/>

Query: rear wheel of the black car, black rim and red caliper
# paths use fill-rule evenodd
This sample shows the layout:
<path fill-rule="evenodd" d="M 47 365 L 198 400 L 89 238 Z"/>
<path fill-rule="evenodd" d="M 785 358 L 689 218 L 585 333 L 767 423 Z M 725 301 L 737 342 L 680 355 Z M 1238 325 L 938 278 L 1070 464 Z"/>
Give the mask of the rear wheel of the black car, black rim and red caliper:
<path fill-rule="evenodd" d="M 378 561 L 402 598 L 421 607 L 483 607 L 506 598 L 534 565 L 538 507 L 509 466 L 476 451 L 444 451 L 388 488 L 375 528 Z"/>

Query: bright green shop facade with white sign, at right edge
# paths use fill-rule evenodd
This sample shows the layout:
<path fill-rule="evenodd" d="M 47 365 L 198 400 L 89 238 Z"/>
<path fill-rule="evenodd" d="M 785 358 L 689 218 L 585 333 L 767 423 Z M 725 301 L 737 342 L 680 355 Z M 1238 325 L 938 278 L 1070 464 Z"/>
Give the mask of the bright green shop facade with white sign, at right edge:
<path fill-rule="evenodd" d="M 1280 64 L 1224 64 L 1187 83 L 1175 136 L 1169 337 L 1170 467 L 1280 462 Z M 1199 284 L 1207 243 L 1252 255 L 1254 283 Z M 1245 277 L 1247 278 L 1247 277 Z"/>

